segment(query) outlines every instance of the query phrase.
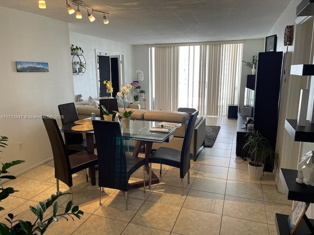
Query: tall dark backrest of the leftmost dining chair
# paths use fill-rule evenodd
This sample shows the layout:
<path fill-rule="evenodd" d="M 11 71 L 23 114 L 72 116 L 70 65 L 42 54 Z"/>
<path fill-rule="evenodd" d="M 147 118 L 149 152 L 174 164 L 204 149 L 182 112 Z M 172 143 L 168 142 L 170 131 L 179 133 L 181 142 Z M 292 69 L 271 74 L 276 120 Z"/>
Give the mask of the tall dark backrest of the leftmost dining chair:
<path fill-rule="evenodd" d="M 52 147 L 55 177 L 72 187 L 71 166 L 67 148 L 63 142 L 57 122 L 53 118 L 42 116 Z"/>

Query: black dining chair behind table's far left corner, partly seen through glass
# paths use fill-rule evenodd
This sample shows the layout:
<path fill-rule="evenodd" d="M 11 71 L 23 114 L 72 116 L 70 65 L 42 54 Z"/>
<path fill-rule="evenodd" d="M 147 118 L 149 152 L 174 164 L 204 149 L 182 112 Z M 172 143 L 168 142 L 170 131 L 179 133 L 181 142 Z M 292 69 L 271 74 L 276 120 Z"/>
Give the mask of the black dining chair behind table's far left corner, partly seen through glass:
<path fill-rule="evenodd" d="M 78 120 L 78 112 L 74 103 L 59 104 L 58 109 L 60 115 L 63 117 L 61 118 L 62 125 L 69 124 Z M 86 139 L 83 138 L 83 135 L 81 133 L 64 132 L 64 140 L 69 153 L 87 150 Z M 94 148 L 96 148 L 95 139 Z"/>

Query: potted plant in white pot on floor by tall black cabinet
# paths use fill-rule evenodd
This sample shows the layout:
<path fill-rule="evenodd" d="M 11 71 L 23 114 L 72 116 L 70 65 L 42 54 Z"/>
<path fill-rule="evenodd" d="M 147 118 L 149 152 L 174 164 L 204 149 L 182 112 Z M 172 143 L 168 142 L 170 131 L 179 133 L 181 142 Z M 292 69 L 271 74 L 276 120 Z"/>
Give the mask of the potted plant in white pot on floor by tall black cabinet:
<path fill-rule="evenodd" d="M 242 154 L 251 158 L 251 162 L 248 163 L 249 176 L 252 180 L 260 180 L 264 163 L 267 161 L 273 164 L 276 154 L 268 140 L 258 130 L 253 130 L 246 137 Z"/>

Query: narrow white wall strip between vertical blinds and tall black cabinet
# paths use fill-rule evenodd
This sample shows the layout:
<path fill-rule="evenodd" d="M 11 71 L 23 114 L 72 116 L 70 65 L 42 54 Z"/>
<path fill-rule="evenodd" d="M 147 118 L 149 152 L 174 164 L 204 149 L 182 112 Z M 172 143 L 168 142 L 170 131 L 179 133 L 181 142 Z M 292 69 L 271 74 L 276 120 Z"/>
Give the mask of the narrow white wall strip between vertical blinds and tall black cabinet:
<path fill-rule="evenodd" d="M 262 51 L 264 51 L 264 39 L 244 40 L 242 60 L 246 62 L 251 62 L 252 56 Z M 252 74 L 252 69 L 248 66 L 245 66 L 244 63 L 242 63 L 240 95 L 239 95 L 240 97 L 239 97 L 239 103 L 238 103 L 239 111 L 241 111 L 241 107 L 244 104 L 244 89 L 246 87 L 248 74 Z"/>

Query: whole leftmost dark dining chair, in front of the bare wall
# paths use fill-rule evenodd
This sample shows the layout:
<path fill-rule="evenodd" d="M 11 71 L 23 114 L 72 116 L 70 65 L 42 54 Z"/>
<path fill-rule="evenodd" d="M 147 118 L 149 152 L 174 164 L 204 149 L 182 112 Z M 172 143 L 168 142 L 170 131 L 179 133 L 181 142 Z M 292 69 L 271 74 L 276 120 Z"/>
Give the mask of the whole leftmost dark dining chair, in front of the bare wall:
<path fill-rule="evenodd" d="M 57 191 L 59 191 L 59 180 L 61 180 L 69 186 L 72 193 L 72 175 L 87 168 L 90 168 L 90 173 L 95 175 L 95 165 L 98 164 L 97 155 L 88 153 L 86 150 L 69 155 L 56 120 L 46 116 L 42 119 L 52 147 Z M 70 196 L 73 200 L 72 194 Z"/>

